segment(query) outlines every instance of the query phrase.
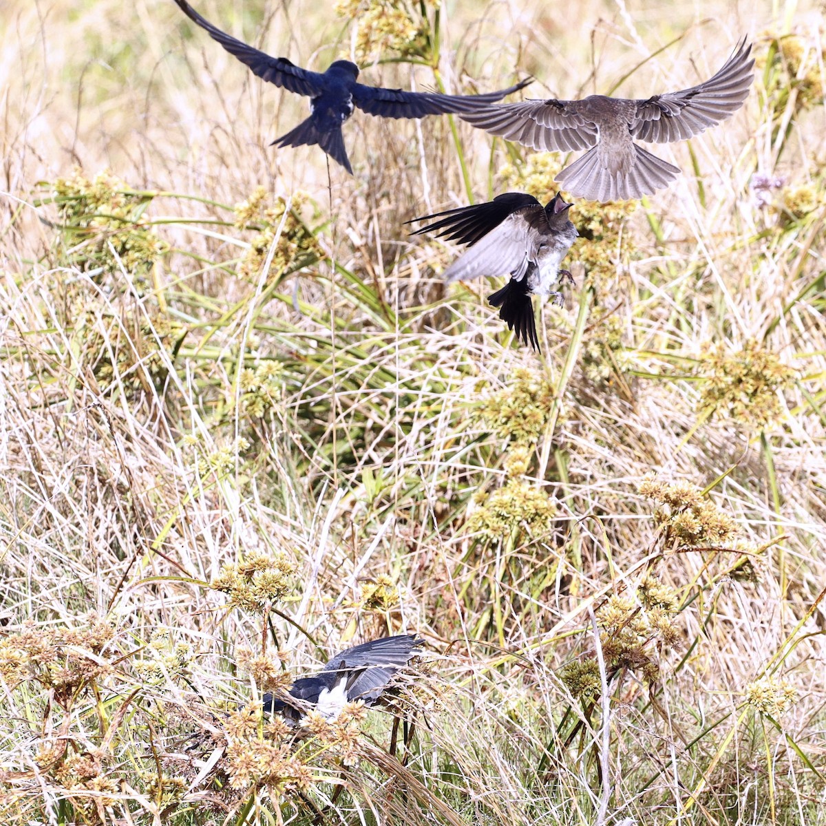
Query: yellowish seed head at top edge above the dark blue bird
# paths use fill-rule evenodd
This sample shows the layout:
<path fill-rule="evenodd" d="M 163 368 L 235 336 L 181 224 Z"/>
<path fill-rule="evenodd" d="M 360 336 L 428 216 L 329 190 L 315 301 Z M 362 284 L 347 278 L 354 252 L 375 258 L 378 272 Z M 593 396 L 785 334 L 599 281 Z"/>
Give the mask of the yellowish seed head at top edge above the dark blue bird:
<path fill-rule="evenodd" d="M 426 58 L 430 52 L 427 12 L 439 5 L 440 0 L 336 0 L 334 8 L 339 17 L 356 21 L 355 59 L 373 63 L 387 52 Z"/>

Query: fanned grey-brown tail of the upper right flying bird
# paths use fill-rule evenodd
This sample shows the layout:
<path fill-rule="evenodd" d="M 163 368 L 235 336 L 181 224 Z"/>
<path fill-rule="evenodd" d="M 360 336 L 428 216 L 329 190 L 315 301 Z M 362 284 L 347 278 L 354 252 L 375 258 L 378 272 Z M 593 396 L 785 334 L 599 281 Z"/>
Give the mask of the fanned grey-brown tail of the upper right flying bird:
<path fill-rule="evenodd" d="M 628 173 L 612 172 L 601 163 L 594 147 L 557 175 L 564 190 L 586 201 L 628 201 L 666 188 L 680 172 L 657 155 L 634 144 L 634 165 Z"/>

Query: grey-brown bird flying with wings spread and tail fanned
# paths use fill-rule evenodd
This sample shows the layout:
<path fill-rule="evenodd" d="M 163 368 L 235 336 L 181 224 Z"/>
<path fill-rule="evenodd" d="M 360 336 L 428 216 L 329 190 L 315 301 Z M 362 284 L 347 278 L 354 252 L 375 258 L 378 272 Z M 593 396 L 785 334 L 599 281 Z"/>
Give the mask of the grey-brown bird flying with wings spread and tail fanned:
<path fill-rule="evenodd" d="M 537 150 L 590 150 L 557 175 L 565 192 L 588 201 L 624 201 L 667 187 L 680 170 L 634 140 L 686 140 L 731 117 L 754 79 L 752 47 L 743 38 L 710 80 L 628 100 L 590 95 L 582 100 L 503 103 L 460 115 L 464 121 Z"/>

